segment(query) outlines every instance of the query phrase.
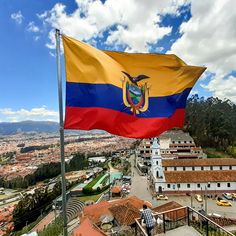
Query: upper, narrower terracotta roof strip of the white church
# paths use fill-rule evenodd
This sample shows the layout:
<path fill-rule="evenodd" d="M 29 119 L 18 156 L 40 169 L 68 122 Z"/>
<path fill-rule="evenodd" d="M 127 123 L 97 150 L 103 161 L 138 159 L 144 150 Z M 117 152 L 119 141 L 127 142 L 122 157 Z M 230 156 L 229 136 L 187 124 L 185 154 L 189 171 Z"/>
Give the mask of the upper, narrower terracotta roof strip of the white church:
<path fill-rule="evenodd" d="M 236 158 L 172 159 L 162 160 L 162 166 L 236 166 Z"/>

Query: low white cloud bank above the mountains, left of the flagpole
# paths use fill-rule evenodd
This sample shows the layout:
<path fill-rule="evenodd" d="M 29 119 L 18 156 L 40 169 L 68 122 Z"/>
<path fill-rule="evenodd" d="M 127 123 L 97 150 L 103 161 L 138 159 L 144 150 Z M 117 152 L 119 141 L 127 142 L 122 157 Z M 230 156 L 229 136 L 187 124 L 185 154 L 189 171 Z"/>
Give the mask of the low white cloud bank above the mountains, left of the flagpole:
<path fill-rule="evenodd" d="M 12 110 L 11 108 L 0 109 L 1 119 L 4 121 L 24 121 L 24 120 L 36 120 L 36 121 L 58 121 L 58 112 L 49 110 L 45 106 L 39 108 L 32 108 L 31 110 L 20 109 Z"/>

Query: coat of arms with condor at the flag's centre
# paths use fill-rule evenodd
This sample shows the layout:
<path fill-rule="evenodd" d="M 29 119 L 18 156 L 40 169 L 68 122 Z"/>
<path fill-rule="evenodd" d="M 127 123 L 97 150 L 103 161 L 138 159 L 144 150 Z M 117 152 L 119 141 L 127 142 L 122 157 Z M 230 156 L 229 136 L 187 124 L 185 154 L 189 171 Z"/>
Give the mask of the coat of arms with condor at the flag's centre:
<path fill-rule="evenodd" d="M 147 83 L 138 84 L 139 81 L 148 79 L 147 75 L 133 77 L 122 71 L 126 76 L 123 80 L 123 102 L 130 107 L 131 112 L 136 115 L 148 109 L 148 87 Z"/>

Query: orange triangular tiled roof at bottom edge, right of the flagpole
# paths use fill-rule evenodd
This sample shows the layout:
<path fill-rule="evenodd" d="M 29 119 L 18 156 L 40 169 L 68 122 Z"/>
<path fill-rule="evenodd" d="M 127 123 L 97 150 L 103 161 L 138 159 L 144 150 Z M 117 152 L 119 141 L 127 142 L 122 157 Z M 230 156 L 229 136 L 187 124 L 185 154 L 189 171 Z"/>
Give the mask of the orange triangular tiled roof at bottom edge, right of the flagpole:
<path fill-rule="evenodd" d="M 74 229 L 72 236 L 105 236 L 106 234 L 94 225 L 88 218 L 82 219 L 81 224 Z"/>

